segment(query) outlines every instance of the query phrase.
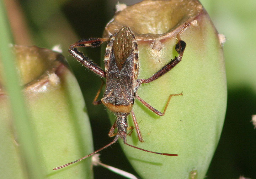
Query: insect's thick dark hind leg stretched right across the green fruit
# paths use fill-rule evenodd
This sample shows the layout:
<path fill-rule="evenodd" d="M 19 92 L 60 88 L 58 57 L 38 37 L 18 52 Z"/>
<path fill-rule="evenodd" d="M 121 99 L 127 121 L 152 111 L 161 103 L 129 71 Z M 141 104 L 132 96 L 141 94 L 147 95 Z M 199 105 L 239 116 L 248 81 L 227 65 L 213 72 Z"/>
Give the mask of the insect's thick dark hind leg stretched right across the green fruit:
<path fill-rule="evenodd" d="M 175 46 L 175 49 L 178 52 L 179 56 L 175 57 L 174 60 L 171 60 L 169 63 L 167 63 L 164 67 L 162 67 L 158 72 L 153 74 L 148 79 L 138 79 L 138 83 L 142 84 L 142 83 L 153 82 L 154 80 L 158 79 L 165 73 L 169 72 L 173 67 L 175 67 L 181 61 L 185 47 L 186 47 L 186 43 L 182 40 L 179 40 Z"/>

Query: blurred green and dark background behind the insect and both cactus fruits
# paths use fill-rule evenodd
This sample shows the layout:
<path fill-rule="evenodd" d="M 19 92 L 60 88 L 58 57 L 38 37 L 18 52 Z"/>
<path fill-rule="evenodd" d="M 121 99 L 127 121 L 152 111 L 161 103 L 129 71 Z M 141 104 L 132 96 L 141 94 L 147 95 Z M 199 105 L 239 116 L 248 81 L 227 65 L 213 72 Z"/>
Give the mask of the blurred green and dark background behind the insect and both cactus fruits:
<path fill-rule="evenodd" d="M 140 0 L 119 2 L 130 5 Z M 61 46 L 86 101 L 95 149 L 111 141 L 107 135 L 111 124 L 105 107 L 92 105 L 101 80 L 69 55 L 68 46 L 81 38 L 101 37 L 114 15 L 117 0 L 4 0 L 4 3 L 15 44 L 49 49 Z M 251 115 L 256 114 L 256 1 L 201 0 L 201 3 L 218 32 L 226 37 L 223 49 L 228 83 L 223 133 L 207 178 L 235 179 L 244 175 L 254 179 L 256 130 Z M 86 54 L 100 63 L 100 48 L 86 49 Z M 119 145 L 101 153 L 103 163 L 135 173 Z M 94 167 L 94 173 L 95 178 L 122 178 L 101 167 Z"/>

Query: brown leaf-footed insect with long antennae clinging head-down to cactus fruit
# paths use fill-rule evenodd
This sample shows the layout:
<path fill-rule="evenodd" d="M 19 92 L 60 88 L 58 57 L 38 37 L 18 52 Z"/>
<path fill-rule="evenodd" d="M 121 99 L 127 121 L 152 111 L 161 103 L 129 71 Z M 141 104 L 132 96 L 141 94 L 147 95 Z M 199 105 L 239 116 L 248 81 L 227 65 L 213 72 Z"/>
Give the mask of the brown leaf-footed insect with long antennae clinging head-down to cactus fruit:
<path fill-rule="evenodd" d="M 90 60 L 90 58 L 84 56 L 81 52 L 78 51 L 77 47 L 98 47 L 103 42 L 108 41 L 109 43 L 106 47 L 105 54 L 105 70 L 103 71 L 99 66 L 97 66 L 94 62 Z M 153 152 L 145 149 L 141 149 L 139 147 L 130 145 L 126 141 L 127 136 L 127 116 L 132 114 L 133 122 L 135 125 L 135 129 L 137 131 L 138 138 L 141 142 L 143 142 L 142 135 L 140 133 L 137 120 L 135 118 L 134 112 L 132 110 L 134 100 L 137 98 L 140 102 L 142 102 L 146 107 L 148 107 L 151 111 L 158 114 L 159 116 L 163 116 L 165 114 L 166 108 L 169 104 L 169 101 L 172 96 L 178 96 L 181 94 L 172 94 L 169 96 L 168 102 L 165 106 L 164 112 L 160 112 L 156 110 L 154 107 L 150 106 L 143 99 L 141 99 L 137 90 L 139 86 L 143 83 L 150 83 L 154 80 L 158 79 L 168 71 L 170 71 L 173 67 L 175 67 L 182 59 L 183 52 L 185 50 L 186 43 L 182 40 L 178 40 L 178 43 L 175 46 L 176 51 L 179 56 L 175 57 L 174 60 L 171 60 L 167 65 L 162 67 L 158 72 L 153 74 L 148 79 L 138 79 L 139 73 L 139 54 L 138 54 L 138 44 L 135 39 L 135 35 L 132 30 L 124 26 L 118 32 L 116 32 L 109 39 L 107 38 L 89 38 L 77 41 L 75 44 L 69 47 L 69 52 L 73 55 L 82 65 L 89 68 L 92 72 L 100 75 L 100 77 L 106 78 L 106 91 L 101 100 L 97 101 L 98 95 L 100 94 L 99 89 L 93 104 L 104 104 L 107 108 L 109 108 L 113 113 L 116 114 L 117 120 L 112 125 L 108 136 L 115 136 L 114 140 L 109 144 L 105 145 L 101 149 L 92 152 L 91 154 L 80 158 L 74 162 L 65 164 L 63 166 L 54 168 L 54 170 L 66 167 L 72 163 L 81 161 L 87 157 L 94 155 L 95 153 L 105 149 L 106 147 L 117 142 L 118 138 L 123 139 L 124 144 L 134 147 L 139 150 L 143 150 L 146 152 L 156 153 L 160 155 L 166 156 L 177 156 L 177 154 L 170 153 L 159 153 Z M 117 133 L 114 133 L 114 129 L 117 128 Z"/>

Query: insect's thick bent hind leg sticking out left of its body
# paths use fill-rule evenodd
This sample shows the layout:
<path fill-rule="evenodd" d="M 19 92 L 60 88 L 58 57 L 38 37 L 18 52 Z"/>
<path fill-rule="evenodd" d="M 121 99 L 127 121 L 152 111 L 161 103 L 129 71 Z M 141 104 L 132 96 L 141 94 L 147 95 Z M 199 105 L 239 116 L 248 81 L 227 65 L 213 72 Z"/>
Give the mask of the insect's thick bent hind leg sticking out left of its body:
<path fill-rule="evenodd" d="M 90 69 L 92 72 L 100 75 L 101 77 L 106 77 L 106 72 L 103 71 L 98 65 L 96 65 L 89 57 L 85 56 L 82 52 L 78 51 L 77 47 L 98 47 L 106 38 L 89 38 L 82 39 L 76 43 L 70 45 L 69 52 L 73 55 L 82 65 Z"/>

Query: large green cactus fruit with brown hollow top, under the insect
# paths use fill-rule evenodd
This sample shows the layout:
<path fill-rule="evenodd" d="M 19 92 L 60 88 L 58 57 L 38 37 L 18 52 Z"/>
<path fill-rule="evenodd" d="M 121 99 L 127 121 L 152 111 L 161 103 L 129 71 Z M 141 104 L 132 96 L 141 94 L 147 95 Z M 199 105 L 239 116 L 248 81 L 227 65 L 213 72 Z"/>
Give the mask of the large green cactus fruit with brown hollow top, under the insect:
<path fill-rule="evenodd" d="M 139 51 L 139 77 L 147 79 L 177 56 L 177 38 L 186 42 L 182 61 L 159 79 L 143 84 L 138 95 L 163 111 L 158 116 L 135 100 L 133 111 L 144 142 L 134 131 L 127 142 L 137 147 L 178 156 L 162 156 L 134 149 L 120 139 L 128 160 L 145 179 L 203 179 L 222 132 L 226 111 L 226 75 L 222 44 L 206 10 L 197 0 L 144 0 L 116 13 L 103 37 L 128 26 Z M 180 36 L 180 37 L 179 37 Z M 116 117 L 111 113 L 112 123 Z M 134 125 L 128 117 L 129 125 Z"/>

